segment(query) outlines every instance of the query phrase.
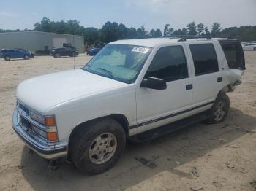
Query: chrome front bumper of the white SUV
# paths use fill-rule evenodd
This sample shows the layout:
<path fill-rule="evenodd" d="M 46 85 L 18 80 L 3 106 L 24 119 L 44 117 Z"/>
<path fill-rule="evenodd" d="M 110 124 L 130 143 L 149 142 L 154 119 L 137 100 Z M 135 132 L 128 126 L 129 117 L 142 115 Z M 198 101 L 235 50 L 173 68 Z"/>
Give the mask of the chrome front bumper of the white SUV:
<path fill-rule="evenodd" d="M 12 114 L 12 128 L 20 136 L 20 138 L 26 143 L 26 145 L 34 150 L 38 155 L 46 159 L 54 159 L 58 157 L 67 156 L 67 143 L 44 143 L 31 136 L 20 123 L 18 122 L 18 109 Z"/>

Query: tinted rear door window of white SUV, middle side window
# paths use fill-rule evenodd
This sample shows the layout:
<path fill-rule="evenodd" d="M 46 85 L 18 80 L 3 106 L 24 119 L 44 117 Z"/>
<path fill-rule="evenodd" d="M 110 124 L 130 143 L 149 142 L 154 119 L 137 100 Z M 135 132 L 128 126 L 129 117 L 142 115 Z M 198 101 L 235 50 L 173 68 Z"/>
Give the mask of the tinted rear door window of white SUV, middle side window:
<path fill-rule="evenodd" d="M 194 61 L 196 76 L 219 71 L 213 44 L 191 44 L 189 47 Z"/>

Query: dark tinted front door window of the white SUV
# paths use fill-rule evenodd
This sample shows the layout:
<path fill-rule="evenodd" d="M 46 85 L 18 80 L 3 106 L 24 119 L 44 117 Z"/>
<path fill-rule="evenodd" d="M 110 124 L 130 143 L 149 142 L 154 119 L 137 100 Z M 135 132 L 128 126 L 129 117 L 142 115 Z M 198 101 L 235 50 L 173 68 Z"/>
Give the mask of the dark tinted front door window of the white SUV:
<path fill-rule="evenodd" d="M 183 48 L 173 46 L 159 49 L 146 73 L 148 77 L 165 79 L 166 82 L 189 77 Z"/>

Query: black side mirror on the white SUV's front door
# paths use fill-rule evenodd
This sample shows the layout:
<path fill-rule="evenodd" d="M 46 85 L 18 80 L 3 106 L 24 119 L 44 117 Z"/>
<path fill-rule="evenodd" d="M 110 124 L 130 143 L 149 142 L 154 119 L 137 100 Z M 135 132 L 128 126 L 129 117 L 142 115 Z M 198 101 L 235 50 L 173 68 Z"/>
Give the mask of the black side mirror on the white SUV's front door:
<path fill-rule="evenodd" d="M 166 82 L 164 79 L 159 79 L 157 77 L 148 77 L 148 79 L 143 79 L 140 87 L 147 87 L 154 90 L 165 90 Z"/>

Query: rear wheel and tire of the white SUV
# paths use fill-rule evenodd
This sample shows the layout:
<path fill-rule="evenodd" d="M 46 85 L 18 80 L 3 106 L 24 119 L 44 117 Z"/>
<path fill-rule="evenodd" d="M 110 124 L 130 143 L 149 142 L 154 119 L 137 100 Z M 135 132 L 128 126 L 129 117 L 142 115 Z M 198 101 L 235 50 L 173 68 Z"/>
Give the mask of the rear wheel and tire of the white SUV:
<path fill-rule="evenodd" d="M 230 109 L 230 98 L 225 93 L 217 96 L 214 105 L 209 112 L 208 124 L 223 122 L 227 118 Z"/>

